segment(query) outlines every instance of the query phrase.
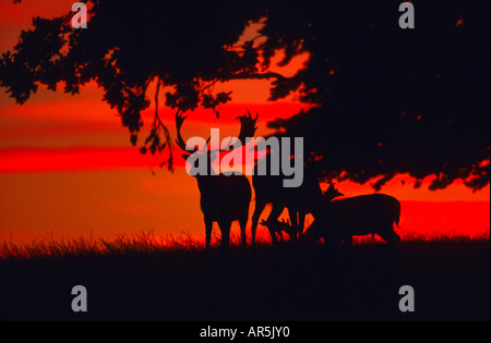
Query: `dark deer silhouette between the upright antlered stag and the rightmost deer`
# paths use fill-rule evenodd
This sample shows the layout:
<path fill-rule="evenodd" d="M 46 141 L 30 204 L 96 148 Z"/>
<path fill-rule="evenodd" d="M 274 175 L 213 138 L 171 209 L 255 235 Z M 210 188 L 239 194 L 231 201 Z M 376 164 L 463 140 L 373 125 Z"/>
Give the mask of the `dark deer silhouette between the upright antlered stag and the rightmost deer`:
<path fill-rule="evenodd" d="M 271 158 L 271 155 L 266 155 L 266 158 Z M 294 241 L 297 238 L 297 235 L 300 238 L 303 233 L 307 213 L 312 213 L 315 218 L 315 213 L 322 210 L 322 189 L 312 172 L 309 172 L 308 169 L 304 170 L 303 183 L 299 187 L 284 187 L 284 175 L 272 175 L 271 170 L 266 172 L 266 175 L 259 175 L 258 164 L 254 166 L 252 185 L 255 192 L 255 208 L 252 215 L 251 228 L 253 245 L 255 244 L 258 222 L 266 204 L 272 204 L 272 210 L 267 219 L 262 221 L 261 224 L 268 229 L 273 243 L 277 242 L 276 233 L 279 233 L 283 238 L 282 231 L 287 232 Z M 278 217 L 285 208 L 288 209 L 292 226 L 285 221 L 278 222 Z"/>

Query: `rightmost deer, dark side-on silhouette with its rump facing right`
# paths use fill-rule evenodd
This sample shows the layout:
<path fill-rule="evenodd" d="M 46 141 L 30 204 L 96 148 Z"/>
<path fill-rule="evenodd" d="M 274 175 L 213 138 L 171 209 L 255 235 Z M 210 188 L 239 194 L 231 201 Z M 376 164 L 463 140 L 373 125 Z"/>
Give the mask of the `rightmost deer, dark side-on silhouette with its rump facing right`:
<path fill-rule="evenodd" d="M 325 243 L 345 242 L 352 244 L 352 236 L 378 234 L 387 244 L 395 245 L 400 237 L 393 224 L 398 228 L 400 203 L 385 194 L 369 194 L 333 200 L 342 196 L 331 184 L 324 193 L 327 203 L 324 216 L 315 219 L 304 234 L 306 242 L 316 242 L 324 237 Z"/>

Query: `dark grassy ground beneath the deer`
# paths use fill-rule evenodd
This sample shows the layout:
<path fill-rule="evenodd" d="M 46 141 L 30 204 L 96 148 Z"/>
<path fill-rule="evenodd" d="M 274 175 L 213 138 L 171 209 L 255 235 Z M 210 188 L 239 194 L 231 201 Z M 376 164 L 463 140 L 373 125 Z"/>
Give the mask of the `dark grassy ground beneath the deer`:
<path fill-rule="evenodd" d="M 489 236 L 204 252 L 149 235 L 0 248 L 1 320 L 489 320 Z M 73 313 L 74 285 L 87 313 Z M 399 287 L 415 290 L 400 313 Z"/>

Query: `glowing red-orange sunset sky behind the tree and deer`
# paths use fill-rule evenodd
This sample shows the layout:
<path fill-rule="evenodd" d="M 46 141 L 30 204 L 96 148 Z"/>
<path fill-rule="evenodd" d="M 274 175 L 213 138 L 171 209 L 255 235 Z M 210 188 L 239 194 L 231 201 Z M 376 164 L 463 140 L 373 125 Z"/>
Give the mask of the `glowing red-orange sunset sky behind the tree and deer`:
<path fill-rule="evenodd" d="M 23 0 L 13 5 L 11 0 L 0 0 L 0 53 L 12 48 L 34 15 L 61 15 L 72 3 Z M 298 58 L 283 72 L 291 73 L 307 58 Z M 235 118 L 248 109 L 260 114 L 258 135 L 268 133 L 267 121 L 288 118 L 302 108 L 295 95 L 283 102 L 267 102 L 270 87 L 267 81 L 218 85 L 217 91 L 233 91 L 231 103 L 220 109 L 220 121 L 212 111 L 197 110 L 190 113 L 183 133 L 208 136 L 209 127 L 220 127 L 224 137 L 237 133 Z M 154 159 L 131 147 L 120 119 L 101 98 L 103 91 L 94 83 L 84 86 L 79 96 L 40 87 L 27 103 L 17 106 L 1 89 L 0 242 L 11 236 L 14 241 L 40 238 L 48 232 L 58 237 L 148 230 L 157 234 L 204 233 L 195 180 L 179 167 L 182 160 L 173 174 L 152 169 Z M 173 128 L 173 112 L 160 111 Z M 383 192 L 406 201 L 403 218 L 412 230 L 489 231 L 489 207 L 479 203 L 442 203 L 443 207 L 421 203 L 489 201 L 489 186 L 478 193 L 462 184 L 430 192 L 424 186 L 412 189 L 411 182 L 403 185 L 403 179 L 396 177 Z M 372 192 L 369 185 L 349 182 L 338 188 L 348 196 Z"/>

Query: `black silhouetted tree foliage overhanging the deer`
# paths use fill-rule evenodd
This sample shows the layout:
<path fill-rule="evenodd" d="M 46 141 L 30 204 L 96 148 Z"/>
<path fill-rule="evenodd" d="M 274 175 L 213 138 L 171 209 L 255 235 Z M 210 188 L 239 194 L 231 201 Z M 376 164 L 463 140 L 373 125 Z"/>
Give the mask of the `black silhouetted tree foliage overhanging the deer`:
<path fill-rule="evenodd" d="M 75 94 L 96 81 L 137 144 L 149 106 L 147 89 L 171 86 L 166 106 L 216 109 L 230 93 L 212 86 L 268 78 L 271 100 L 299 91 L 311 110 L 270 123 L 304 136 L 309 162 L 327 177 L 380 189 L 398 173 L 430 189 L 462 179 L 472 189 L 489 184 L 489 1 L 412 1 L 416 28 L 398 26 L 400 2 L 378 1 L 85 1 L 87 29 L 71 14 L 36 17 L 13 52 L 0 60 L 0 85 L 23 103 L 39 84 Z M 251 22 L 262 39 L 238 45 Z M 270 71 L 308 52 L 291 77 Z M 142 152 L 168 149 L 171 138 L 157 109 Z"/>

